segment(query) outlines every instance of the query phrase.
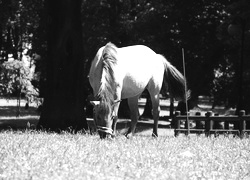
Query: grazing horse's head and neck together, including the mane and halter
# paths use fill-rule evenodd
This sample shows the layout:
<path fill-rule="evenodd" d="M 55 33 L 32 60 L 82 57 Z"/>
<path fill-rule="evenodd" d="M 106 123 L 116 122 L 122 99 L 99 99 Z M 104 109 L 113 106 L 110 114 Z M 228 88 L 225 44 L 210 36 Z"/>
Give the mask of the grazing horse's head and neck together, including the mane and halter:
<path fill-rule="evenodd" d="M 99 100 L 91 103 L 94 105 L 94 121 L 101 138 L 113 134 L 112 124 L 118 109 L 115 108 L 118 98 L 114 73 L 117 64 L 116 49 L 116 46 L 111 43 L 100 48 L 89 73 L 89 81 L 95 98 Z M 115 112 L 114 109 L 116 109 Z"/>

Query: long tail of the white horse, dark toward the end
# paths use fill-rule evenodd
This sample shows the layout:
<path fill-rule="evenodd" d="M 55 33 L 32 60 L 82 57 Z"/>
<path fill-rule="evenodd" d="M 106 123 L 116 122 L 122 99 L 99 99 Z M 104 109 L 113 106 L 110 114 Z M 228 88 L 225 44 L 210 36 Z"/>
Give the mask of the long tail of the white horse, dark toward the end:
<path fill-rule="evenodd" d="M 170 96 L 181 101 L 185 101 L 186 98 L 189 99 L 190 91 L 186 92 L 185 77 L 164 56 L 160 54 L 159 56 L 162 58 L 165 66 L 164 84 L 167 86 Z"/>

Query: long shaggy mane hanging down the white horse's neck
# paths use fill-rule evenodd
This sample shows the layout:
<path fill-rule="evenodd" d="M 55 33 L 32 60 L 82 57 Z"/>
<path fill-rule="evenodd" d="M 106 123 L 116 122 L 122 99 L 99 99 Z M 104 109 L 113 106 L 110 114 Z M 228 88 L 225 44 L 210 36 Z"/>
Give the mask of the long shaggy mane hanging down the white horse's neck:
<path fill-rule="evenodd" d="M 111 111 L 116 98 L 116 83 L 114 76 L 114 66 L 117 63 L 116 48 L 117 47 L 112 43 L 106 44 L 101 56 L 102 76 L 98 98 L 101 101 L 100 111 L 103 114 L 107 114 Z"/>

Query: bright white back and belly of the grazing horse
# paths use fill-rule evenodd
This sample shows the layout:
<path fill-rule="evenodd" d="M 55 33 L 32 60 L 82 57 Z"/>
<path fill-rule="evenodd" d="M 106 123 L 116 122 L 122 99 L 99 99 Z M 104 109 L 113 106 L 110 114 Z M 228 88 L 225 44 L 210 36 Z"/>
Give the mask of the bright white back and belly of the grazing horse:
<path fill-rule="evenodd" d="M 123 98 L 142 93 L 149 83 L 158 85 L 158 79 L 161 85 L 164 66 L 152 49 L 143 45 L 128 46 L 119 48 L 117 54 L 117 74 L 122 76 Z"/>

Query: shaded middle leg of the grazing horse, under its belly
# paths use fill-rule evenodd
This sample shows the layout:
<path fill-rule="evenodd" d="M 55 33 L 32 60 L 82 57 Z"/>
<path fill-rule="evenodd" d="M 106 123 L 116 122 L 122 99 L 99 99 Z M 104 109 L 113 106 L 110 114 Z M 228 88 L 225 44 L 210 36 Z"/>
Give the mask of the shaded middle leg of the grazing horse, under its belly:
<path fill-rule="evenodd" d="M 126 136 L 128 136 L 128 134 L 130 133 L 132 133 L 132 135 L 135 134 L 135 128 L 136 128 L 136 124 L 138 121 L 138 98 L 139 96 L 135 96 L 135 97 L 128 99 L 128 106 L 129 106 L 130 117 L 131 117 L 131 125 Z"/>

